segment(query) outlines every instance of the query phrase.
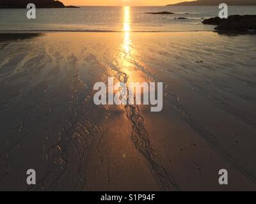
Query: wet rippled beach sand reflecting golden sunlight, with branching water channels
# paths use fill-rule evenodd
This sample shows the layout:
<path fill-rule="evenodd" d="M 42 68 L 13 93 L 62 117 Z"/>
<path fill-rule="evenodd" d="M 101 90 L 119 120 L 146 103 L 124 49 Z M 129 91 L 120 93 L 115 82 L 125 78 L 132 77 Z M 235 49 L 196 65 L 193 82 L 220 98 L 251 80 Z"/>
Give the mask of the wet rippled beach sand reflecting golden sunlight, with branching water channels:
<path fill-rule="evenodd" d="M 255 191 L 255 44 L 212 32 L 0 34 L 0 190 Z M 95 105 L 108 77 L 164 82 L 163 111 Z"/>

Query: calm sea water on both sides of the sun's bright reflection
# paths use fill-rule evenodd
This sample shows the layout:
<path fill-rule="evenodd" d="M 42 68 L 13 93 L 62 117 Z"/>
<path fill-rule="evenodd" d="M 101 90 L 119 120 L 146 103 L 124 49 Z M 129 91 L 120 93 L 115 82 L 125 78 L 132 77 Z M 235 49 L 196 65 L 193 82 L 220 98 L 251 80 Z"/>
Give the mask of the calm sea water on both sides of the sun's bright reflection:
<path fill-rule="evenodd" d="M 131 31 L 211 31 L 205 18 L 218 16 L 218 6 L 131 7 Z M 28 19 L 24 9 L 0 9 L 0 31 L 122 31 L 122 6 L 82 6 L 81 8 L 36 9 L 36 19 Z M 147 12 L 170 11 L 173 15 Z M 256 6 L 228 6 L 228 15 L 256 14 Z M 184 17 L 187 19 L 175 19 Z"/>

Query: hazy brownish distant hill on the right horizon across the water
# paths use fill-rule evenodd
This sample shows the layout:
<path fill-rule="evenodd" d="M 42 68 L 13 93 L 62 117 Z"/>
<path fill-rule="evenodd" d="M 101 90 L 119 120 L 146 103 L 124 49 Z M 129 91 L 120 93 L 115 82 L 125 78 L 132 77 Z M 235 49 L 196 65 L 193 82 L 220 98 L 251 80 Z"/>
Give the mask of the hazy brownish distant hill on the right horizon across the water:
<path fill-rule="evenodd" d="M 256 0 L 198 0 L 168 4 L 166 6 L 217 6 L 221 3 L 226 3 L 228 6 L 256 6 Z"/>

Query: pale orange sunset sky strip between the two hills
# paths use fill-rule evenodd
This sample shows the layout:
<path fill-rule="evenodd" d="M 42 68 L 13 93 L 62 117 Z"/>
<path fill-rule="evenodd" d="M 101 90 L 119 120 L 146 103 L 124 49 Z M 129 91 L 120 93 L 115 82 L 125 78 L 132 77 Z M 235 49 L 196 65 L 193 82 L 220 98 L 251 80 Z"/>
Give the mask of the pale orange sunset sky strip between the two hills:
<path fill-rule="evenodd" d="M 131 6 L 164 6 L 166 4 L 179 3 L 192 0 L 60 0 L 66 6 L 123 6 L 128 3 Z"/>

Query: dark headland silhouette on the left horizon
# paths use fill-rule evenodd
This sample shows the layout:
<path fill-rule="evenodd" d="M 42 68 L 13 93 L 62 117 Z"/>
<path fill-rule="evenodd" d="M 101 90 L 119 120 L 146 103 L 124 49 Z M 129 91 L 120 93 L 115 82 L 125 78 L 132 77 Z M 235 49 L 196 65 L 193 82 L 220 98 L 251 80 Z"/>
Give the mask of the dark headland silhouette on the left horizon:
<path fill-rule="evenodd" d="M 60 1 L 54 0 L 0 0 L 0 8 L 26 8 L 29 3 L 34 3 L 36 8 L 64 8 Z"/>

